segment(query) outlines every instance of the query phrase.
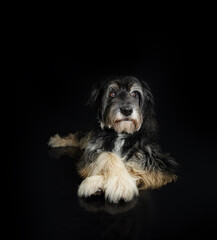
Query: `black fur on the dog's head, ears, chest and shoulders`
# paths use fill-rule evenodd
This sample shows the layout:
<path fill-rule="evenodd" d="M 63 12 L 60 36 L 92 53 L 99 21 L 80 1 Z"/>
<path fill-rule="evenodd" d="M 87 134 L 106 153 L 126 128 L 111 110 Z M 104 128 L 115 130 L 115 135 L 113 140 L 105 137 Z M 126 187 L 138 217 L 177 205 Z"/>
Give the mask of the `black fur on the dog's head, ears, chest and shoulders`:
<path fill-rule="evenodd" d="M 106 99 L 103 102 L 103 96 L 108 89 L 111 82 L 116 82 L 120 86 L 121 91 L 126 91 L 127 86 L 131 83 L 139 83 L 142 87 L 143 96 L 138 94 L 138 104 L 142 111 L 143 121 L 139 131 L 133 134 L 123 133 L 124 145 L 121 149 L 121 155 L 125 156 L 126 161 L 135 161 L 139 163 L 142 168 L 149 171 L 160 171 L 168 174 L 175 174 L 177 170 L 177 163 L 169 156 L 169 154 L 162 153 L 158 144 L 158 126 L 154 111 L 154 98 L 151 94 L 148 84 L 144 81 L 139 81 L 135 77 L 116 77 L 102 81 L 94 86 L 88 104 L 96 111 L 96 122 L 91 130 L 88 145 L 93 145 L 93 148 L 84 149 L 84 154 L 78 164 L 82 168 L 87 163 L 93 162 L 99 153 L 112 152 L 115 147 L 115 142 L 118 138 L 118 133 L 114 129 L 100 126 L 100 121 L 106 118 L 107 108 L 109 108 L 109 101 Z M 105 107 L 106 105 L 106 107 Z M 105 110 L 103 111 L 103 106 Z M 83 138 L 87 133 L 79 133 L 78 138 Z M 136 156 L 137 152 L 142 154 L 142 158 Z"/>

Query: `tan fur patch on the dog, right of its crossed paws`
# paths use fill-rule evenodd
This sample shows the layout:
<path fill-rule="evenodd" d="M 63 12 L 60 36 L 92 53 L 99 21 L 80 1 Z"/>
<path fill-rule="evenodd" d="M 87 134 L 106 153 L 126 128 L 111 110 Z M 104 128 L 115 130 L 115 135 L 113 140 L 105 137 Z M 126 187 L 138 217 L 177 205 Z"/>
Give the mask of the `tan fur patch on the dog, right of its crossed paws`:
<path fill-rule="evenodd" d="M 129 173 L 136 177 L 139 189 L 159 188 L 169 182 L 176 181 L 175 174 L 166 174 L 159 171 L 145 171 L 135 162 L 128 162 L 126 167 Z"/>

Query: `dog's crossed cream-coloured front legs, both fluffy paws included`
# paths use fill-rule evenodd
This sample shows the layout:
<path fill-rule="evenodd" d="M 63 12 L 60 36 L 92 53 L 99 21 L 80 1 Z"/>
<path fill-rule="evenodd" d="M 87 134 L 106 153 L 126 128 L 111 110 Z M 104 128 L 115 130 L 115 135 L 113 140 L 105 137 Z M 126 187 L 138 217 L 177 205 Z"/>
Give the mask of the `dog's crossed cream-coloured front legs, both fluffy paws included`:
<path fill-rule="evenodd" d="M 130 176 L 123 160 L 116 154 L 103 152 L 86 167 L 88 177 L 79 186 L 79 197 L 88 197 L 98 190 L 105 191 L 105 198 L 117 203 L 130 201 L 138 195 L 136 179 Z"/>

